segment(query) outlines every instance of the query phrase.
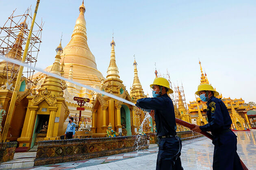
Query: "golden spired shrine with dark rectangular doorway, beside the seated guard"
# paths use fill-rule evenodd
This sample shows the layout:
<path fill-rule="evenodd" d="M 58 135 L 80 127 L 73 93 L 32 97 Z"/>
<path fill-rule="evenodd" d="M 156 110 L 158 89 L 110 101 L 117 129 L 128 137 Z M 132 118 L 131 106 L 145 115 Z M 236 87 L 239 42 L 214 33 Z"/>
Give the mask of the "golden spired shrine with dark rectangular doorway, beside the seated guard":
<path fill-rule="evenodd" d="M 51 73 L 61 75 L 61 43 L 56 49 L 55 62 L 50 70 Z M 27 96 L 28 105 L 26 117 L 20 138 L 17 139 L 19 147 L 32 148 L 38 134 L 41 140 L 56 140 L 65 133 L 63 123 L 69 115 L 69 110 L 63 97 L 63 83 L 60 79 L 46 76 L 38 94 L 33 91 Z"/>

